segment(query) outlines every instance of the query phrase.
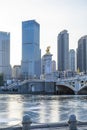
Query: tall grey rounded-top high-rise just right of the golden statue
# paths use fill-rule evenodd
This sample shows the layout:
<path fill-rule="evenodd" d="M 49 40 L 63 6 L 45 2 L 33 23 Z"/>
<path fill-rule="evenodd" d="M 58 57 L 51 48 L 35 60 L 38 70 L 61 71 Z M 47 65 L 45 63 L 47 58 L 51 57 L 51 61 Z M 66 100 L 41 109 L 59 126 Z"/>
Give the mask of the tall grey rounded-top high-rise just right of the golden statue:
<path fill-rule="evenodd" d="M 67 30 L 63 30 L 59 33 L 57 45 L 58 70 L 66 71 L 69 69 L 69 34 Z"/>

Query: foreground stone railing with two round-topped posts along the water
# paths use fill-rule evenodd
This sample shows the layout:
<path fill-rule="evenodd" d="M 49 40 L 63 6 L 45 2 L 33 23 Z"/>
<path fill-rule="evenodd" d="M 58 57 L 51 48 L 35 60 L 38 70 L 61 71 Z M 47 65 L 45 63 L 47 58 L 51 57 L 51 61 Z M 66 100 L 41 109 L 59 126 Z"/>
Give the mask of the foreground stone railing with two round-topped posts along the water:
<path fill-rule="evenodd" d="M 55 128 L 55 127 L 68 127 L 68 130 L 77 130 L 78 125 L 87 125 L 87 122 L 80 122 L 76 120 L 75 115 L 70 115 L 68 122 L 66 123 L 49 123 L 49 124 L 40 124 L 40 125 L 31 125 L 32 121 L 29 115 L 25 115 L 22 120 L 21 127 L 9 127 L 9 128 L 0 128 L 0 130 L 31 130 L 31 129 L 43 129 L 43 128 Z M 62 129 L 62 130 L 63 130 Z"/>

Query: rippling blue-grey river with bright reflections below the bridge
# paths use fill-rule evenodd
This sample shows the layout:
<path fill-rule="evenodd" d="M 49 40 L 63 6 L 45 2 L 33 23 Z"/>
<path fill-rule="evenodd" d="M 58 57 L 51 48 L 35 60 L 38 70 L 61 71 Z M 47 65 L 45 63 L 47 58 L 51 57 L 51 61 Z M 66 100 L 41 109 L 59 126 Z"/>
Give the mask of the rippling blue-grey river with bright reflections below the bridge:
<path fill-rule="evenodd" d="M 25 114 L 34 124 L 66 122 L 70 114 L 87 121 L 87 96 L 0 95 L 0 127 L 21 124 Z"/>

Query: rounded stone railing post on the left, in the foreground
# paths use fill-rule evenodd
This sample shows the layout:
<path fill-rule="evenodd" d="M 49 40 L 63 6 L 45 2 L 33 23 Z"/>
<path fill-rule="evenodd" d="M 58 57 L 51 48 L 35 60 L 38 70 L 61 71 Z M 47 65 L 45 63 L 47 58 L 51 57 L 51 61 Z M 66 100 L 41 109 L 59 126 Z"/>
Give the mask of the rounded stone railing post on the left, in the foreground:
<path fill-rule="evenodd" d="M 30 130 L 30 125 L 32 121 L 29 117 L 29 115 L 24 115 L 23 120 L 22 120 L 22 130 Z"/>

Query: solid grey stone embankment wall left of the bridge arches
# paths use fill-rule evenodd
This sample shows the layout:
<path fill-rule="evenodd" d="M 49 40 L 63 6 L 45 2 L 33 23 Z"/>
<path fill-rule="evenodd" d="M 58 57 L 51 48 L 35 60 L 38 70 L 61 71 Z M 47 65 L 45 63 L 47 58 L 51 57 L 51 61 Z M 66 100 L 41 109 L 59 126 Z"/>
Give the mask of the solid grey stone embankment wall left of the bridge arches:
<path fill-rule="evenodd" d="M 19 86 L 7 86 L 0 94 L 55 94 L 55 82 L 31 80 Z"/>

